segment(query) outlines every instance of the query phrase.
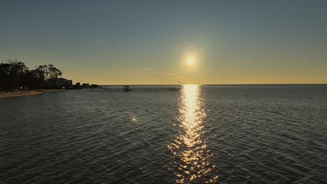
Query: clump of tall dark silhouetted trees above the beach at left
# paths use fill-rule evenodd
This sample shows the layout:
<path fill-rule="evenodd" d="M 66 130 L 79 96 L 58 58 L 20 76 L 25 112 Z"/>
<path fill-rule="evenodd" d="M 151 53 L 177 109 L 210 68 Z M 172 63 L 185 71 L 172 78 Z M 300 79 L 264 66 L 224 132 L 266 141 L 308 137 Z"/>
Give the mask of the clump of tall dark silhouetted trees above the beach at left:
<path fill-rule="evenodd" d="M 0 89 L 43 89 L 61 75 L 61 70 L 53 65 L 29 69 L 25 63 L 9 59 L 7 63 L 0 63 Z"/>

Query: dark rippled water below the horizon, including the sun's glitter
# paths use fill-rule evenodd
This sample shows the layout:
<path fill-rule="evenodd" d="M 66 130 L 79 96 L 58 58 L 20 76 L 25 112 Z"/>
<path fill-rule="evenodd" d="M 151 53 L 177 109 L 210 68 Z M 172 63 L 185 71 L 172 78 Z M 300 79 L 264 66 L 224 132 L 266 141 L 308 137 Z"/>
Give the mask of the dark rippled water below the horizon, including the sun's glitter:
<path fill-rule="evenodd" d="M 327 183 L 327 86 L 0 99 L 0 183 Z"/>

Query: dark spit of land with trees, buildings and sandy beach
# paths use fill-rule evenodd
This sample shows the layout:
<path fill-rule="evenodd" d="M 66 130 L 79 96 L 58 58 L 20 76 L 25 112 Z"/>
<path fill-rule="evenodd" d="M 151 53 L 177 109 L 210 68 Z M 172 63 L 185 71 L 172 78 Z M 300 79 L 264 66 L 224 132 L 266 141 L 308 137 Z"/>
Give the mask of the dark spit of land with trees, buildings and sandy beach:
<path fill-rule="evenodd" d="M 20 96 L 38 94 L 60 89 L 97 88 L 96 84 L 80 84 L 61 78 L 63 73 L 53 65 L 41 65 L 34 69 L 25 63 L 8 59 L 8 63 L 0 63 L 0 93 L 1 96 Z"/>

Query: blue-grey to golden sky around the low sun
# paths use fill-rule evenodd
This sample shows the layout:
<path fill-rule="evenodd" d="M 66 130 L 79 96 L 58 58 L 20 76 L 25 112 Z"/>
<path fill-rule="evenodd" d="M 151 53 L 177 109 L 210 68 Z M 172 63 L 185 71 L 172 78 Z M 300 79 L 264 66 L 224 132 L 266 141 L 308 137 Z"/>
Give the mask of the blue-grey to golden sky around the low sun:
<path fill-rule="evenodd" d="M 0 63 L 90 84 L 327 84 L 327 1 L 0 1 Z M 187 64 L 187 58 L 194 65 Z"/>

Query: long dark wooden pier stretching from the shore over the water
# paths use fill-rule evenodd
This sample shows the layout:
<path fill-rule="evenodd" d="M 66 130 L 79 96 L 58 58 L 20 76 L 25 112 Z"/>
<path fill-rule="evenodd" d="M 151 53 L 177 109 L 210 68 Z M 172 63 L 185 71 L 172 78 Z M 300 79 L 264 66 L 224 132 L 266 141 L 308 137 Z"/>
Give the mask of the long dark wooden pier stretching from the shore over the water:
<path fill-rule="evenodd" d="M 85 89 L 67 89 L 68 92 L 131 92 L 131 91 L 180 91 L 180 88 L 175 87 L 129 87 L 124 88 L 85 88 Z"/>

